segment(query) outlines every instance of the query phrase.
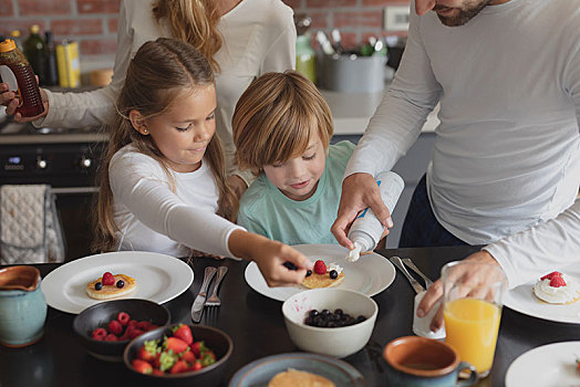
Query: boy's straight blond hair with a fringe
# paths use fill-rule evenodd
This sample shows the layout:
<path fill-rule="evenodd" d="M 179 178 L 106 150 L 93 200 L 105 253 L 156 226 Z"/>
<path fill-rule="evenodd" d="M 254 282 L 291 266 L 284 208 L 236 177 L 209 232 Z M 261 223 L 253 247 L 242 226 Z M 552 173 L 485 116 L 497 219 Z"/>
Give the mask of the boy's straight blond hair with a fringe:
<path fill-rule="evenodd" d="M 317 132 L 328 150 L 333 132 L 329 105 L 296 71 L 255 80 L 238 100 L 231 124 L 236 163 L 256 175 L 265 165 L 303 154 Z"/>

